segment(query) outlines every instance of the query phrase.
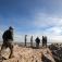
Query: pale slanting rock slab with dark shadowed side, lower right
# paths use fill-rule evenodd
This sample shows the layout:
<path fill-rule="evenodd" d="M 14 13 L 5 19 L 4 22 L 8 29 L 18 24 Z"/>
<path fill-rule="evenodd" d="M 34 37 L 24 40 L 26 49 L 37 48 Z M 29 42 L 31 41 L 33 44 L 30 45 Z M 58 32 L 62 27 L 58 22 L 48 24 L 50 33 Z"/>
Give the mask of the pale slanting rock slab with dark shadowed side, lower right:
<path fill-rule="evenodd" d="M 48 48 L 44 49 L 42 53 L 44 53 L 44 62 L 55 62 L 54 59 L 52 58 L 51 51 Z"/>

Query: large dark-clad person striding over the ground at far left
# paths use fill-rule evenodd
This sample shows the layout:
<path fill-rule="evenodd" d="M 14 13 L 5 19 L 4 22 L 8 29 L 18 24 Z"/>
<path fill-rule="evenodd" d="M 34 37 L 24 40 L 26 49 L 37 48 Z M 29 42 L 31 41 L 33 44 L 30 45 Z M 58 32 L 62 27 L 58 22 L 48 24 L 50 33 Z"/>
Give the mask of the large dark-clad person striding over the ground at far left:
<path fill-rule="evenodd" d="M 11 53 L 10 53 L 10 57 L 11 58 L 11 54 L 13 52 L 13 46 L 12 46 L 12 41 L 13 41 L 13 28 L 10 26 L 8 30 L 5 30 L 2 35 L 2 39 L 3 39 L 3 44 L 2 44 L 2 47 L 1 47 L 1 50 L 3 48 L 10 48 L 11 50 Z"/>

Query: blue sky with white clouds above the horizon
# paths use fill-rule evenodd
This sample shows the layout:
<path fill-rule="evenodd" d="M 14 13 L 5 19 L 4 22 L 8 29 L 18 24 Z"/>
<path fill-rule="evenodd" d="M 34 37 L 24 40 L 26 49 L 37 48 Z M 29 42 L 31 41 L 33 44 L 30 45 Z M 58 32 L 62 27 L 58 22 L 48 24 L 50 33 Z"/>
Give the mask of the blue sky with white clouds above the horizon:
<path fill-rule="evenodd" d="M 0 40 L 9 26 L 14 41 L 27 34 L 28 41 L 46 35 L 49 42 L 62 42 L 62 0 L 0 0 Z"/>

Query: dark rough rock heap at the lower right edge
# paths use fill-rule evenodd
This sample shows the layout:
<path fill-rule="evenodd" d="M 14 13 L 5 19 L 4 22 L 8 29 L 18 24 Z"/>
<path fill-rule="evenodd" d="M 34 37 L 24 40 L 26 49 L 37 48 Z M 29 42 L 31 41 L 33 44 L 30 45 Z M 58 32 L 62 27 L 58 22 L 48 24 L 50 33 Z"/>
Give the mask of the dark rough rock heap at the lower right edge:
<path fill-rule="evenodd" d="M 62 47 L 58 44 L 52 44 L 49 48 L 52 51 L 53 58 L 57 62 L 62 62 Z"/>

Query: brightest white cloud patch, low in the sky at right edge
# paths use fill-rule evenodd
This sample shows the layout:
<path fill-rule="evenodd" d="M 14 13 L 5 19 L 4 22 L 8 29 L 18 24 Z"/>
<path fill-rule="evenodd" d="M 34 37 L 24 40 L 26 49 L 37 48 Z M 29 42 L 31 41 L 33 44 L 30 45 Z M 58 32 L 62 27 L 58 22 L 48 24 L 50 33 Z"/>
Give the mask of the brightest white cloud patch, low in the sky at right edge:
<path fill-rule="evenodd" d="M 49 35 L 55 35 L 55 36 L 60 36 L 62 35 L 62 28 L 61 27 L 50 27 L 48 29 L 45 30 L 46 34 Z"/>

